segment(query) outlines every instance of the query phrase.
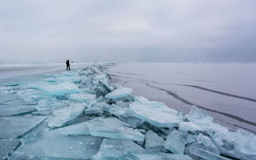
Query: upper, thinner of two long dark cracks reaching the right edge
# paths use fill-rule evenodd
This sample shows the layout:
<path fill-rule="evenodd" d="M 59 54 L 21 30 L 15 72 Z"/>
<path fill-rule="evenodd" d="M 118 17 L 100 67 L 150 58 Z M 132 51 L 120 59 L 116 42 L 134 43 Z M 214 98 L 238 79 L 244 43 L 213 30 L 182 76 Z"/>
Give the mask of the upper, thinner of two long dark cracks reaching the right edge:
<path fill-rule="evenodd" d="M 111 76 L 116 76 L 116 75 L 111 75 Z M 243 99 L 243 100 L 249 100 L 249 101 L 252 101 L 252 102 L 256 102 L 256 99 L 253 99 L 253 98 L 238 96 L 238 95 L 225 93 L 225 92 L 220 92 L 220 91 L 216 91 L 216 90 L 212 90 L 212 89 L 208 89 L 208 88 L 204 88 L 204 87 L 200 87 L 200 86 L 196 86 L 196 85 L 157 83 L 155 81 L 149 81 L 149 80 L 140 79 L 140 78 L 132 78 L 132 77 L 125 77 L 125 76 L 116 76 L 116 77 L 123 77 L 123 78 L 128 78 L 128 79 L 135 79 L 135 80 L 140 80 L 140 81 L 152 82 L 154 84 L 167 84 L 167 85 L 179 85 L 179 86 L 193 87 L 193 88 L 197 88 L 197 89 L 200 89 L 200 90 L 213 92 L 213 93 L 217 93 L 217 94 L 221 94 L 221 95 L 225 95 L 225 96 L 229 96 L 229 97 L 233 97 L 233 98 L 239 98 L 239 99 Z"/>

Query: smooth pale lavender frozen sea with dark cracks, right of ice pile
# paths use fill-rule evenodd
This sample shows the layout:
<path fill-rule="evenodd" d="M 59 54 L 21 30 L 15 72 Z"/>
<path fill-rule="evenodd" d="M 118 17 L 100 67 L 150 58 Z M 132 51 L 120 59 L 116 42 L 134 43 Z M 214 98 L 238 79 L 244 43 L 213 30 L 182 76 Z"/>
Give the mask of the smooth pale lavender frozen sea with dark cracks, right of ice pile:
<path fill-rule="evenodd" d="M 134 95 L 186 114 L 195 104 L 215 123 L 256 133 L 254 63 L 118 63 L 106 71 Z"/>

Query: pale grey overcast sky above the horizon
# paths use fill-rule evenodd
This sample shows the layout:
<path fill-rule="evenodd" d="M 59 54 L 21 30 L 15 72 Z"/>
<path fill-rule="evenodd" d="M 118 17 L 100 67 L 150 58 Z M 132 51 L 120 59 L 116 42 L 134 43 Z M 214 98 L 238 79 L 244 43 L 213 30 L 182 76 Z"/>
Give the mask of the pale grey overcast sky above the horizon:
<path fill-rule="evenodd" d="M 255 0 L 0 0 L 0 63 L 256 62 Z"/>

